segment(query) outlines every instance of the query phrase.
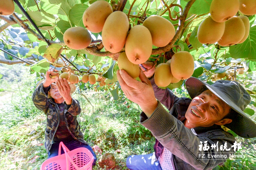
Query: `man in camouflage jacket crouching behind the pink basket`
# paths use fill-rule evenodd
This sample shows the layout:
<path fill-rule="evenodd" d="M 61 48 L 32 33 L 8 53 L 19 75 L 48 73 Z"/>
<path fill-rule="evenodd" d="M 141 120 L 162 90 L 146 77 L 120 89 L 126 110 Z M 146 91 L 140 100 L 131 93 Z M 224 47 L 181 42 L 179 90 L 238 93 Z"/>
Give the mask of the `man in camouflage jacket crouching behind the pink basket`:
<path fill-rule="evenodd" d="M 92 152 L 92 165 L 95 165 L 96 155 L 84 141 L 84 135 L 76 119 L 81 112 L 78 100 L 71 96 L 76 90 L 76 85 L 69 84 L 67 79 L 59 78 L 58 75 L 58 70 L 50 67 L 45 74 L 45 80 L 36 87 L 32 97 L 35 106 L 47 117 L 44 145 L 48 159 L 58 156 L 59 144 L 63 142 L 70 151 L 81 147 L 87 148 Z M 64 154 L 63 149 L 61 154 Z"/>

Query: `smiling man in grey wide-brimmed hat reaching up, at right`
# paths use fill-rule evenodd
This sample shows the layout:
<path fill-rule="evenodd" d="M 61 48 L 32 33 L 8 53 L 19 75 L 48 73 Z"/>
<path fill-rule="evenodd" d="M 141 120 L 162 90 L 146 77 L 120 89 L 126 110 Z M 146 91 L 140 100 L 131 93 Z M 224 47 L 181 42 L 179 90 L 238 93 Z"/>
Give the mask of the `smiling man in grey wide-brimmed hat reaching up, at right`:
<path fill-rule="evenodd" d="M 153 64 L 146 62 L 143 66 L 149 69 Z M 219 80 L 209 85 L 188 78 L 185 85 L 191 100 L 159 88 L 154 71 L 155 67 L 145 74 L 141 70 L 141 82 L 124 70 L 117 71 L 124 94 L 142 109 L 140 123 L 156 137 L 154 153 L 127 158 L 130 170 L 212 169 L 222 165 L 238 145 L 221 125 L 240 137 L 256 137 L 256 124 L 243 112 L 250 95 L 236 81 Z"/>

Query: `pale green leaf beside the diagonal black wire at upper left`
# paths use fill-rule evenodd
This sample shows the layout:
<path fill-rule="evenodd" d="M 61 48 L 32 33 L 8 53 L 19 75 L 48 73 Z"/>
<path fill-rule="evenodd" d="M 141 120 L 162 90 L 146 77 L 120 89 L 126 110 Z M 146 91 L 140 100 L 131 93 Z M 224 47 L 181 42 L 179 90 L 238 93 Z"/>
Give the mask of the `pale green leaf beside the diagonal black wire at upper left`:
<path fill-rule="evenodd" d="M 51 14 L 39 11 L 27 11 L 27 13 L 38 27 L 55 26 L 55 17 Z"/>

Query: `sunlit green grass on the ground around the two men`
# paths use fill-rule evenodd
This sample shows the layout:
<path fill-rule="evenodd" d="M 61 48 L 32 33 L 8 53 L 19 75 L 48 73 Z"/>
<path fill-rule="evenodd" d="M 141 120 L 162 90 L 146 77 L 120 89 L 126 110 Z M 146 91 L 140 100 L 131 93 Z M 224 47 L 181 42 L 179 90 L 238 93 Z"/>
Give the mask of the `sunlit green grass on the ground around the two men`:
<path fill-rule="evenodd" d="M 27 67 L 21 68 L 26 70 Z M 1 70 L 1 66 L 0 66 Z M 15 70 L 15 69 L 14 69 Z M 28 72 L 28 70 L 26 70 Z M 12 74 L 11 72 L 10 74 Z M 1 74 L 1 72 L 0 72 Z M 10 76 L 14 78 L 14 76 Z M 37 80 L 35 75 L 17 76 L 17 82 L 1 80 L 0 85 L 5 91 L 0 92 L 0 169 L 39 169 L 47 153 L 44 148 L 45 115 L 38 111 L 31 101 Z M 126 158 L 133 154 L 152 153 L 155 138 L 151 132 L 139 123 L 140 107 L 130 103 L 124 95 L 114 101 L 109 92 L 83 92 L 90 102 L 79 94 L 78 99 L 82 113 L 78 122 L 84 133 L 84 139 L 91 145 L 98 145 L 103 153 L 113 153 L 117 169 L 127 169 Z M 255 115 L 252 116 L 255 119 Z M 241 152 L 245 160 L 228 160 L 215 170 L 256 169 L 256 139 L 236 137 L 242 142 Z M 120 150 L 121 152 L 115 152 Z M 240 152 L 239 151 L 239 152 Z M 98 155 L 99 159 L 100 155 Z M 97 164 L 94 170 L 102 170 Z"/>

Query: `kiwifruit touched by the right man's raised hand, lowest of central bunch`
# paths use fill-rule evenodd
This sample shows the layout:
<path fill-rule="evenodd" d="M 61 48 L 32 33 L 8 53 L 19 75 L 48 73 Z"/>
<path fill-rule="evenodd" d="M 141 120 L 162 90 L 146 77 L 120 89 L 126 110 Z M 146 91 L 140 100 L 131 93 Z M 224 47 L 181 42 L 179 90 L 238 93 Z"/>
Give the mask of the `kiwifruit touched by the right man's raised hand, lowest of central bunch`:
<path fill-rule="evenodd" d="M 137 78 L 140 75 L 140 66 L 130 62 L 125 52 L 119 55 L 117 65 L 120 70 L 125 70 L 132 78 Z"/>

